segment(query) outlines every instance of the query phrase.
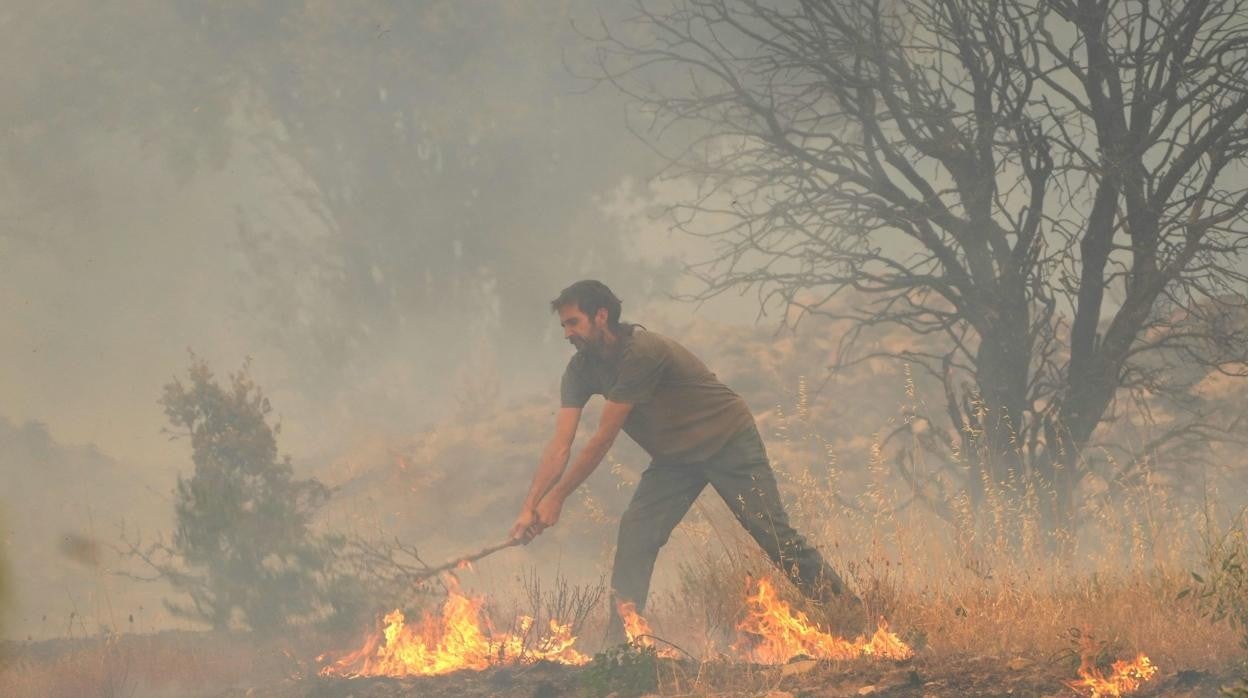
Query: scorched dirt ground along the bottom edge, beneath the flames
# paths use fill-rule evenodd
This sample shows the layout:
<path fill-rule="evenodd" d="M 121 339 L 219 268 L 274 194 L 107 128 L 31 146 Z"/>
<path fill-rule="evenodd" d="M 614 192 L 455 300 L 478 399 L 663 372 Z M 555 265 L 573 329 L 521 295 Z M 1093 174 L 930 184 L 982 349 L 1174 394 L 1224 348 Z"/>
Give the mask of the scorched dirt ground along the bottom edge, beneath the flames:
<path fill-rule="evenodd" d="M 1077 697 L 1070 657 L 934 656 L 907 661 L 796 659 L 771 667 L 735 662 L 650 657 L 631 673 L 618 664 L 567 667 L 539 662 L 428 678 L 323 678 L 318 647 L 327 638 L 292 633 L 258 639 L 248 634 L 166 632 L 109 639 L 51 641 L 0 648 L 4 698 L 392 698 L 515 697 L 629 698 L 639 696 L 796 697 Z M 629 654 L 636 657 L 636 654 Z M 1159 663 L 1158 673 L 1132 696 L 1248 698 L 1242 667 Z"/>

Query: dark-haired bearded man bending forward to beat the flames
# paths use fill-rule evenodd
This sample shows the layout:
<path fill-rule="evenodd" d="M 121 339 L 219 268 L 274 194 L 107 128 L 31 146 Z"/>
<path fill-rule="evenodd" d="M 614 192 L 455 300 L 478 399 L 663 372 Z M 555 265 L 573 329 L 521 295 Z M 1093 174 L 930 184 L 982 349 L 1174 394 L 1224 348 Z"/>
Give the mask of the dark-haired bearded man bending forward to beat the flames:
<path fill-rule="evenodd" d="M 659 548 L 710 484 L 809 598 L 860 607 L 841 578 L 792 527 L 754 416 L 735 392 L 675 341 L 620 323 L 620 300 L 600 281 L 578 281 L 550 307 L 577 347 L 563 375 L 554 438 L 512 527 L 530 541 L 559 521 L 564 501 L 598 467 L 623 428 L 653 458 L 620 519 L 612 569 L 608 642 L 623 642 L 620 602 L 645 607 Z M 580 411 L 607 398 L 598 430 L 568 468 Z"/>

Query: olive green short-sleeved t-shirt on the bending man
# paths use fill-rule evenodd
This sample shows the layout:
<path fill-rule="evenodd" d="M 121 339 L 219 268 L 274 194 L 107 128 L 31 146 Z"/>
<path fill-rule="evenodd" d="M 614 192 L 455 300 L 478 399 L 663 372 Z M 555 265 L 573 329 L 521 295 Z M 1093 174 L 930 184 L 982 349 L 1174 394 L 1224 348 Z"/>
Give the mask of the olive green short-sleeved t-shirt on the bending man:
<path fill-rule="evenodd" d="M 663 463 L 710 458 L 754 423 L 741 396 L 674 340 L 633 328 L 619 341 L 612 360 L 572 357 L 560 387 L 564 407 L 584 407 L 593 395 L 633 405 L 624 432 Z"/>

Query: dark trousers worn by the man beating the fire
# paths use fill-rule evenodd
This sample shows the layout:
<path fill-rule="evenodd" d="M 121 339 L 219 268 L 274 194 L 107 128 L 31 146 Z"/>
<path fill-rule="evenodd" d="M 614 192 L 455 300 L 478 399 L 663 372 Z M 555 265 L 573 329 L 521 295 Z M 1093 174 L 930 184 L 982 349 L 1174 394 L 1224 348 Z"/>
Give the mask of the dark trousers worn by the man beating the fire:
<path fill-rule="evenodd" d="M 805 596 L 825 599 L 842 593 L 840 576 L 824 562 L 819 551 L 789 526 L 766 448 L 759 430 L 751 425 L 706 461 L 679 465 L 653 462 L 641 473 L 641 482 L 620 519 L 612 567 L 614 598 L 607 628 L 608 644 L 625 639 L 617 603 L 631 601 L 638 612 L 645 608 L 659 548 L 668 542 L 671 531 L 706 484 L 715 488 L 736 521 Z"/>

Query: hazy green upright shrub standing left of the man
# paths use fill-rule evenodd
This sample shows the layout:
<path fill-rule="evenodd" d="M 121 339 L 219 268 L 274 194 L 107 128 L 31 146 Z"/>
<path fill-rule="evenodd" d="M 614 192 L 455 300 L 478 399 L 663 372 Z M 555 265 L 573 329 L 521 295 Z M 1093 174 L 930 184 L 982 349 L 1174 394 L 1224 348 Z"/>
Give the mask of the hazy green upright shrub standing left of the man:
<path fill-rule="evenodd" d="M 213 627 L 271 629 L 324 612 L 333 546 L 310 531 L 329 496 L 296 479 L 277 453 L 280 426 L 247 365 L 227 385 L 192 357 L 188 380 L 165 386 L 160 403 L 173 435 L 191 442 L 195 471 L 178 477 L 177 528 L 157 569 L 190 603 L 167 603 Z"/>

